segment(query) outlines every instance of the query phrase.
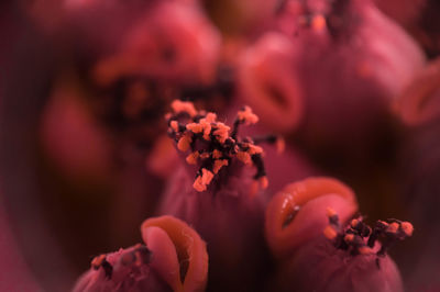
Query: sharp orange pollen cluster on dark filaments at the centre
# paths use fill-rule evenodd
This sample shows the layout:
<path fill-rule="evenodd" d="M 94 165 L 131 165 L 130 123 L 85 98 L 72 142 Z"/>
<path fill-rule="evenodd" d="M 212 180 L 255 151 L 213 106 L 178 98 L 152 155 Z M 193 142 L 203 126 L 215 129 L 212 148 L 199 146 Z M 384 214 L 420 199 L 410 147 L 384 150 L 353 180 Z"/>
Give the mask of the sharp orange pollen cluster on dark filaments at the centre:
<path fill-rule="evenodd" d="M 254 179 L 261 188 L 267 188 L 263 148 L 249 137 L 237 137 L 240 124 L 254 124 L 258 121 L 251 108 L 244 106 L 239 111 L 232 132 L 230 126 L 217 121 L 215 113 L 197 111 L 191 102 L 174 101 L 172 110 L 172 113 L 165 115 L 169 136 L 175 139 L 178 150 L 191 151 L 186 157 L 187 164 L 200 165 L 194 189 L 206 191 L 215 176 L 230 166 L 232 159 L 255 166 L 257 172 Z M 272 142 L 274 138 L 271 137 L 262 141 Z"/>

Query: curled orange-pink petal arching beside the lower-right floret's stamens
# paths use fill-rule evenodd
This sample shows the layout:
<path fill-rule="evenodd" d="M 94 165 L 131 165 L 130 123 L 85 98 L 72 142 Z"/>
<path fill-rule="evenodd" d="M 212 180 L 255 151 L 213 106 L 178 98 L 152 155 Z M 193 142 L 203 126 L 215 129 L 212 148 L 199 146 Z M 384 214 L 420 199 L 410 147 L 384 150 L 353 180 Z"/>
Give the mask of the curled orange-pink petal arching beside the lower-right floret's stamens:
<path fill-rule="evenodd" d="M 286 186 L 266 210 L 265 234 L 271 251 L 283 260 L 314 239 L 327 225 L 326 209 L 332 207 L 343 221 L 358 211 L 353 191 L 324 177 L 308 178 Z"/>

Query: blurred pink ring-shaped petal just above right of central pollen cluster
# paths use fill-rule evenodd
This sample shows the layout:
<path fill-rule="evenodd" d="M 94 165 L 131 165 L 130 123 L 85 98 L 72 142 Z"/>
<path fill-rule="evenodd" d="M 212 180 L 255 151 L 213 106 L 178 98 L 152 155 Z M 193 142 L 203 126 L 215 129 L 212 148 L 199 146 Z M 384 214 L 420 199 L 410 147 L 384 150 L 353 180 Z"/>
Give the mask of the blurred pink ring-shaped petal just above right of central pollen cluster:
<path fill-rule="evenodd" d="M 287 36 L 266 33 L 241 56 L 239 97 L 254 109 L 264 126 L 292 132 L 302 117 L 304 92 L 293 68 L 296 47 Z"/>

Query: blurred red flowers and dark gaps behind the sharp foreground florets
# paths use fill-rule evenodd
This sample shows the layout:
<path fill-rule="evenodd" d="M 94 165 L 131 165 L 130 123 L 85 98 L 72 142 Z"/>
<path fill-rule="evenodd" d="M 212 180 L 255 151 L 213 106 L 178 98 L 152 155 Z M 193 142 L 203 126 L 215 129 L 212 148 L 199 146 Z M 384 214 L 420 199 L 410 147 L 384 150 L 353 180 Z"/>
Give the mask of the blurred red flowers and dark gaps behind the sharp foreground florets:
<path fill-rule="evenodd" d="M 68 291 L 140 240 L 174 99 L 283 135 L 272 193 L 332 176 L 372 222 L 411 221 L 391 254 L 408 291 L 440 291 L 438 1 L 4 1 L 0 40 L 1 291 Z"/>

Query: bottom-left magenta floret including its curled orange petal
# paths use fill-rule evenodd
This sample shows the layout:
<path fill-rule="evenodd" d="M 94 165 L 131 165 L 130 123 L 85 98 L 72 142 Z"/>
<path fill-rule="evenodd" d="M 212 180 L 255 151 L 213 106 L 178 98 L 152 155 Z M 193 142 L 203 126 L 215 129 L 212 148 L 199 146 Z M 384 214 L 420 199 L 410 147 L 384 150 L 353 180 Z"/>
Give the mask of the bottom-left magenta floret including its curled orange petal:
<path fill-rule="evenodd" d="M 204 291 L 208 254 L 200 236 L 172 216 L 146 220 L 141 227 L 145 245 L 101 255 L 76 283 L 86 291 Z"/>

